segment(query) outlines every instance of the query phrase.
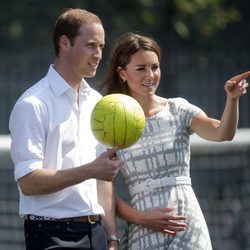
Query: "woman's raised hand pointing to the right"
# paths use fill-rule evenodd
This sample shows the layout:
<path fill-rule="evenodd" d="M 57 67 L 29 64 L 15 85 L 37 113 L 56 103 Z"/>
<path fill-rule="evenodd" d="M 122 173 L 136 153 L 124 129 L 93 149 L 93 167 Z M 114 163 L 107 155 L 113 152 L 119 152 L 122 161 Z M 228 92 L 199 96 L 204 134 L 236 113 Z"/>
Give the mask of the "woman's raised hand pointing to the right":
<path fill-rule="evenodd" d="M 247 77 L 250 76 L 250 71 L 232 77 L 225 84 L 225 91 L 227 96 L 231 99 L 239 98 L 247 93 L 249 84 L 246 82 Z"/>

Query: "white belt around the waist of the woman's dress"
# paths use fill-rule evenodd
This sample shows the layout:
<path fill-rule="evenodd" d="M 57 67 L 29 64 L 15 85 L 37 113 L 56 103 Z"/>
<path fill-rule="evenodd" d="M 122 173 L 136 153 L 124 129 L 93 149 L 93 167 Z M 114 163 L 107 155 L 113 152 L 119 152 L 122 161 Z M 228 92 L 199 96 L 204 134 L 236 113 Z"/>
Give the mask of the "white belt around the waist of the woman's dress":
<path fill-rule="evenodd" d="M 177 176 L 177 177 L 163 177 L 160 179 L 147 179 L 134 186 L 129 186 L 129 193 L 131 196 L 141 193 L 150 192 L 156 188 L 163 188 L 167 186 L 176 185 L 191 185 L 191 178 L 189 176 Z"/>

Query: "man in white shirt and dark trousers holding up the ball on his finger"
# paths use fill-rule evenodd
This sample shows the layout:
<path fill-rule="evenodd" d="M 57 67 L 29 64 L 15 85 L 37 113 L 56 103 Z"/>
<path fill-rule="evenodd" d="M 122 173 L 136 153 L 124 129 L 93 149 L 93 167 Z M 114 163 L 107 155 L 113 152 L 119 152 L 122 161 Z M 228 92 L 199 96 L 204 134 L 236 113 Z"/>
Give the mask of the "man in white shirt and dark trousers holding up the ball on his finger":
<path fill-rule="evenodd" d="M 95 76 L 104 39 L 93 13 L 62 13 L 54 64 L 12 110 L 11 155 L 27 250 L 118 249 L 112 180 L 122 161 L 91 133 L 91 111 L 101 95 L 83 78 Z"/>

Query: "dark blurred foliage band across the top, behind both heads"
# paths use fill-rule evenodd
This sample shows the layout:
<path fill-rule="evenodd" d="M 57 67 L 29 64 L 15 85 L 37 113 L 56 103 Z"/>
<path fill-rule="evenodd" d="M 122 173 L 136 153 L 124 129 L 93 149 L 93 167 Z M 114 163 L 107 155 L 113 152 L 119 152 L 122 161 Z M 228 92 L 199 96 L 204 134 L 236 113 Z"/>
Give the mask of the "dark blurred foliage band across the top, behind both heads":
<path fill-rule="evenodd" d="M 2 0 L 0 50 L 51 47 L 53 23 L 69 7 L 99 15 L 107 43 L 123 32 L 142 31 L 160 41 L 206 45 L 220 31 L 240 23 L 246 6 L 246 0 Z"/>

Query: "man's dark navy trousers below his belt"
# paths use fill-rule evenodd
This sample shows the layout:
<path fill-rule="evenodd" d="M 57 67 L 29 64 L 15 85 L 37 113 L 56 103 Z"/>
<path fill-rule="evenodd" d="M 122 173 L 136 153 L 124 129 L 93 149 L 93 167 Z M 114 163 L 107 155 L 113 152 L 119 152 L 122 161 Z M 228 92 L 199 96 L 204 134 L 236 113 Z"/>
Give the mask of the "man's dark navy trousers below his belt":
<path fill-rule="evenodd" d="M 25 220 L 26 250 L 107 250 L 107 236 L 102 221 L 61 222 Z"/>

